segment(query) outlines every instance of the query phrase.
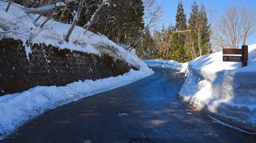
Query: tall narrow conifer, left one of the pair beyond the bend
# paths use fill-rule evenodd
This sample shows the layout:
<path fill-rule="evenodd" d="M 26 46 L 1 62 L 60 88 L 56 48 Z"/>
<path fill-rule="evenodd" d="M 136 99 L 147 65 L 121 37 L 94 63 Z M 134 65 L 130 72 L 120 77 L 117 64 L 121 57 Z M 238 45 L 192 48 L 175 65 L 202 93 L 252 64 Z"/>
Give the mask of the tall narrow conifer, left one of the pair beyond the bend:
<path fill-rule="evenodd" d="M 177 13 L 176 13 L 176 24 L 175 31 L 182 31 L 187 29 L 186 25 L 186 14 L 184 13 L 184 8 L 181 0 L 179 0 Z M 172 36 L 173 46 L 172 46 L 172 60 L 184 62 L 187 58 L 184 45 L 186 41 L 186 36 L 181 33 L 175 33 Z"/>

